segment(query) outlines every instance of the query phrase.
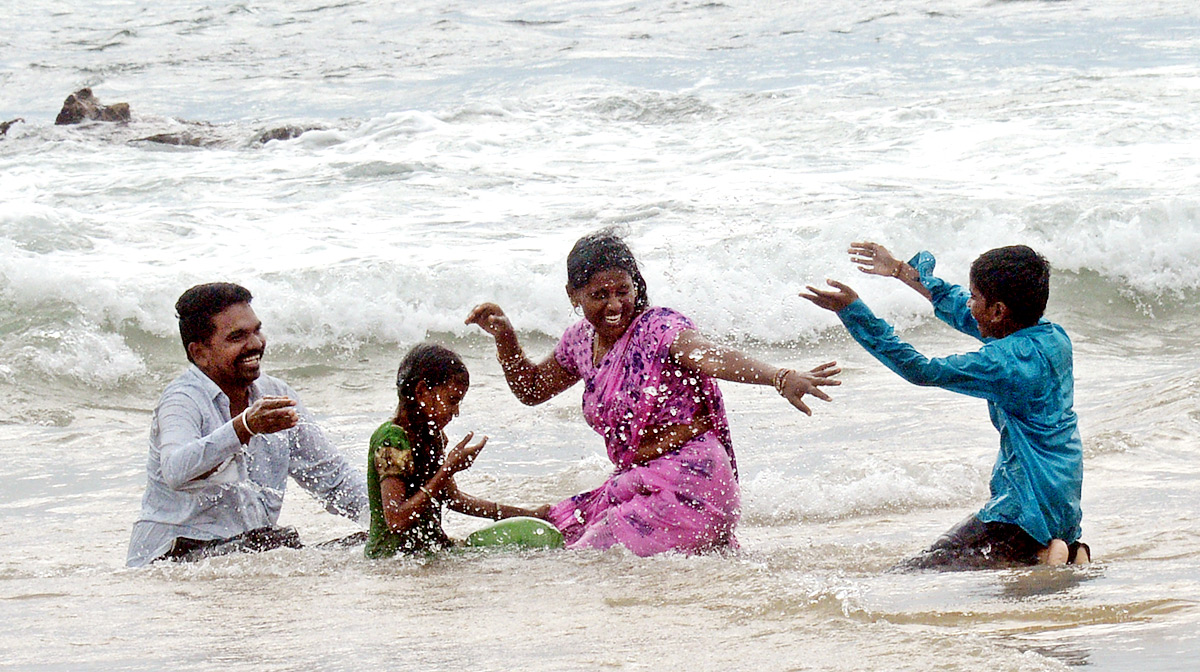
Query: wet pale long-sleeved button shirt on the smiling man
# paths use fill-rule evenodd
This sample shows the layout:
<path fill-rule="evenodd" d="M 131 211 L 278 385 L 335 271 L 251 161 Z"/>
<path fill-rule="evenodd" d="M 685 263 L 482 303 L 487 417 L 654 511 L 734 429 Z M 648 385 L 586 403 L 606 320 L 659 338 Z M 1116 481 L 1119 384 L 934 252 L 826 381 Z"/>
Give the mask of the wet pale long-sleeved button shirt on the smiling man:
<path fill-rule="evenodd" d="M 300 422 L 242 445 L 229 397 L 199 368 L 190 366 L 167 385 L 150 424 L 146 491 L 128 566 L 162 557 L 178 538 L 227 540 L 275 527 L 288 476 L 331 512 L 349 518 L 366 512 L 362 473 L 329 443 L 295 390 L 262 376 L 250 386 L 250 402 L 268 395 L 296 400 Z"/>

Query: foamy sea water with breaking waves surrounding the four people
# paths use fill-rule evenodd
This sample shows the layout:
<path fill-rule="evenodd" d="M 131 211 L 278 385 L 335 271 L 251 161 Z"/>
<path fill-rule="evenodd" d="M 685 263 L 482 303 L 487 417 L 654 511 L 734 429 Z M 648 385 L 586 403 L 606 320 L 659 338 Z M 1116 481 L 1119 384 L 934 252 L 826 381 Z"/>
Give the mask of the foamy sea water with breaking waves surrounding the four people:
<path fill-rule="evenodd" d="M 1193 670 L 1200 664 L 1200 11 L 1192 2 L 30 0 L 5 11 L 0 668 Z M 53 125 L 71 91 L 128 125 Z M 263 130 L 312 127 L 262 144 Z M 193 133 L 206 146 L 138 142 Z M 474 494 L 610 470 L 578 390 L 527 408 L 478 302 L 535 358 L 564 259 L 618 227 L 653 302 L 779 366 L 725 384 L 742 547 L 636 558 L 283 550 L 124 569 L 173 304 L 256 295 L 265 366 L 355 463 L 425 338 L 472 370 Z M 977 343 L 851 241 L 1055 268 L 1075 346 L 1086 569 L 888 572 L 988 497 L 982 401 L 899 380 L 797 296 L 850 282 L 930 355 Z M 356 529 L 290 488 L 281 520 Z M 448 515 L 464 536 L 480 522 Z"/>

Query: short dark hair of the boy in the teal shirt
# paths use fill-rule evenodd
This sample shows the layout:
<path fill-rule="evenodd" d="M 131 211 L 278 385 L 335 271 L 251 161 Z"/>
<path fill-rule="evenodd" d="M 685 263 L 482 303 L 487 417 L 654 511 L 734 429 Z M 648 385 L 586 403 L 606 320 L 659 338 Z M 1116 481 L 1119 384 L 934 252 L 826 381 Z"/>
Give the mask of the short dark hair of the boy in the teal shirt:
<path fill-rule="evenodd" d="M 971 282 L 989 304 L 1003 301 L 1013 322 L 1032 326 L 1050 298 L 1050 263 L 1025 245 L 997 247 L 971 264 Z"/>

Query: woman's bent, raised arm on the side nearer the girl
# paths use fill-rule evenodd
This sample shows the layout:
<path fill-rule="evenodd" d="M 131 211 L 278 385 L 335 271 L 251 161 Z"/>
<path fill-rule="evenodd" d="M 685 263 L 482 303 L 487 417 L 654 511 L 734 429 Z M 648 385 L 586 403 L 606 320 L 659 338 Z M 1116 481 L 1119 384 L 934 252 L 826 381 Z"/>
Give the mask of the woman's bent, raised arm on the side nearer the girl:
<path fill-rule="evenodd" d="M 478 324 L 480 329 L 496 338 L 496 356 L 504 370 L 504 379 L 517 400 L 526 406 L 536 406 L 574 385 L 578 377 L 568 372 L 554 355 L 541 364 L 534 364 L 526 356 L 517 342 L 512 323 L 496 304 L 480 304 L 467 316 L 467 324 Z"/>

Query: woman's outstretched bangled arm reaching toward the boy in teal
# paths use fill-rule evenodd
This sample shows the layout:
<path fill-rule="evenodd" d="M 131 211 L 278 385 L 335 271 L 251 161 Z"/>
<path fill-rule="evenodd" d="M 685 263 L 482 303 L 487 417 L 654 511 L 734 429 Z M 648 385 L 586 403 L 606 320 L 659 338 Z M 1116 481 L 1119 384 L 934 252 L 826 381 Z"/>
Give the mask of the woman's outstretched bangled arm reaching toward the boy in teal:
<path fill-rule="evenodd" d="M 822 364 L 806 373 L 780 368 L 740 350 L 718 346 L 694 329 L 679 332 L 671 344 L 671 356 L 679 366 L 703 376 L 733 383 L 774 385 L 784 398 L 808 415 L 812 415 L 812 410 L 802 400 L 804 395 L 832 401 L 820 386 L 841 385 L 841 380 L 834 379 L 834 376 L 841 373 L 835 361 Z"/>

